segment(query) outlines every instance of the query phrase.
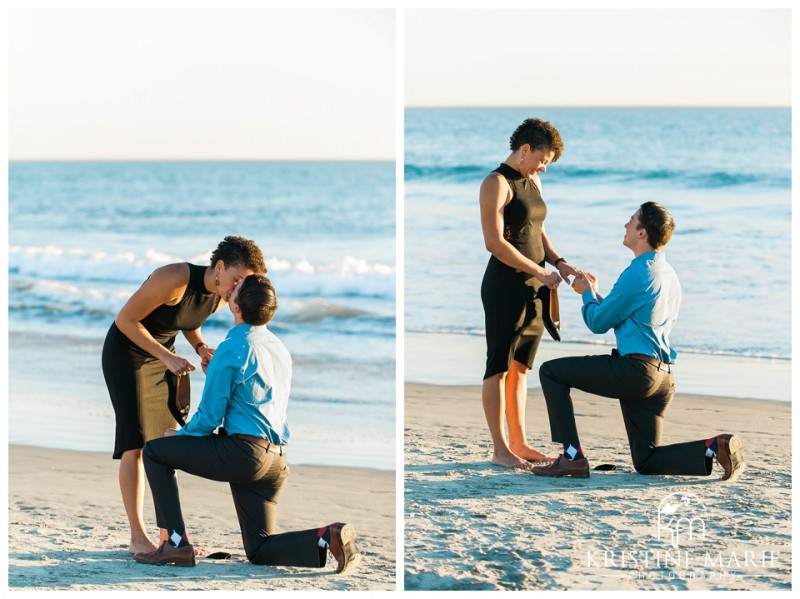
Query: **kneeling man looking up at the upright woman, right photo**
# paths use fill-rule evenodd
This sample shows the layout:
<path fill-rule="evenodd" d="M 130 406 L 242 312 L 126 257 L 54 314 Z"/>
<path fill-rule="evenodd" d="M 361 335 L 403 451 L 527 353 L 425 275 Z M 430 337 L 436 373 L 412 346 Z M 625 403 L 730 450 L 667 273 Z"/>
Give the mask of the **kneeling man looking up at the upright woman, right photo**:
<path fill-rule="evenodd" d="M 593 333 L 613 328 L 617 347 L 611 355 L 559 358 L 539 368 L 552 439 L 563 444 L 564 453 L 555 463 L 534 468 L 534 474 L 589 476 L 572 388 L 619 400 L 633 466 L 640 474 L 708 476 L 715 459 L 722 467 L 722 480 L 734 480 L 744 470 L 736 435 L 661 445 L 664 415 L 675 395 L 677 354 L 669 333 L 681 304 L 678 277 L 662 251 L 674 228 L 663 206 L 645 202 L 625 225 L 623 244 L 635 257 L 611 293 L 601 296 L 590 273 L 575 278 L 572 287 L 583 298 L 586 326 Z"/>

